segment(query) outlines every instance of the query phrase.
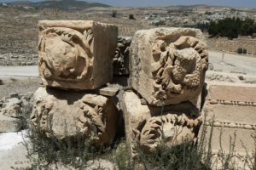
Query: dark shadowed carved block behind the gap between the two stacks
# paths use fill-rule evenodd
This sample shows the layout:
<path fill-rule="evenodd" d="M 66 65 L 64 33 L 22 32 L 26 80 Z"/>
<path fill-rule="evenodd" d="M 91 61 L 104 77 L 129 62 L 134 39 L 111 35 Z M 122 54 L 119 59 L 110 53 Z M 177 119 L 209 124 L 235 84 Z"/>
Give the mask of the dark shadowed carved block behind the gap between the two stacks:
<path fill-rule="evenodd" d="M 113 74 L 129 74 L 129 53 L 131 37 L 119 37 L 115 55 L 113 57 Z"/>

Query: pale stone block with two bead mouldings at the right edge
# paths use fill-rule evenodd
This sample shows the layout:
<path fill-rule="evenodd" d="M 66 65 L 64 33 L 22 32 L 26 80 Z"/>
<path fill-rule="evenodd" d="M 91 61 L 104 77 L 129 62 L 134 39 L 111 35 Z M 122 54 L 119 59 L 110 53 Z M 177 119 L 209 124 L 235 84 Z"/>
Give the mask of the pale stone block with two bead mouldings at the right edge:
<path fill-rule="evenodd" d="M 207 131 L 201 129 L 201 134 L 206 136 L 206 144 L 211 140 L 211 151 L 216 156 L 233 154 L 240 158 L 236 161 L 236 167 L 242 166 L 242 160 L 252 156 L 253 150 L 255 151 L 255 92 L 256 87 L 253 86 L 212 84 L 208 87 L 206 104 L 202 112 L 203 116 L 207 116 Z M 234 150 L 230 153 L 232 147 Z M 220 151 L 222 153 L 219 153 Z"/>

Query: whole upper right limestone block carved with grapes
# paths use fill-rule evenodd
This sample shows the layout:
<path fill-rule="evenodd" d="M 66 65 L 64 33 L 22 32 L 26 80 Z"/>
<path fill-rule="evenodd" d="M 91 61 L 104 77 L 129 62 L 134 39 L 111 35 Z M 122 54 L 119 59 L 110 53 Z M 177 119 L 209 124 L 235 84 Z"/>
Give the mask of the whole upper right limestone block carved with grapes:
<path fill-rule="evenodd" d="M 131 86 L 149 105 L 194 104 L 205 79 L 208 51 L 200 30 L 156 28 L 135 33 Z"/>

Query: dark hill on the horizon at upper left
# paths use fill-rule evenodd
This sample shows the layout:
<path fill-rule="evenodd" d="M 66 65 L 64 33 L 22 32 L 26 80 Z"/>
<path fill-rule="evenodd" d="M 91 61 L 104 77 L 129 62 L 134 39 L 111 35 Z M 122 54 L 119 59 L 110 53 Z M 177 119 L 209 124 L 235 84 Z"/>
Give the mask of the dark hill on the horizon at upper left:
<path fill-rule="evenodd" d="M 33 3 L 30 1 L 16 1 L 7 4 L 12 6 L 28 6 L 34 8 L 60 8 L 64 10 L 78 10 L 90 7 L 110 7 L 109 5 L 103 3 L 89 3 L 77 0 L 48 0 L 38 3 Z"/>

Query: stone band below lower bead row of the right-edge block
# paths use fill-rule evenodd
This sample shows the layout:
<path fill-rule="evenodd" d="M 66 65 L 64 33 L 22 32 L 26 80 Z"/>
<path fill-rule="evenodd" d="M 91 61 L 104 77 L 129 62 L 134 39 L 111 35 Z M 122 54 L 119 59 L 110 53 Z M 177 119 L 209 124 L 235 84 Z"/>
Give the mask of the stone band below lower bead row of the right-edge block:
<path fill-rule="evenodd" d="M 210 138 L 211 132 L 212 137 Z M 252 136 L 255 136 L 255 131 L 253 130 L 207 127 L 205 151 L 208 150 L 208 144 L 211 144 L 212 169 L 223 169 L 224 158 L 227 159 L 228 156 L 230 156 L 229 163 L 234 164 L 234 169 L 253 169 L 254 157 L 252 154 L 255 153 L 255 140 L 253 140 Z M 212 139 L 211 142 L 208 142 L 209 139 Z M 232 149 L 233 146 L 234 148 Z M 246 161 L 248 162 L 245 163 Z"/>

